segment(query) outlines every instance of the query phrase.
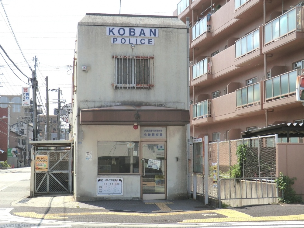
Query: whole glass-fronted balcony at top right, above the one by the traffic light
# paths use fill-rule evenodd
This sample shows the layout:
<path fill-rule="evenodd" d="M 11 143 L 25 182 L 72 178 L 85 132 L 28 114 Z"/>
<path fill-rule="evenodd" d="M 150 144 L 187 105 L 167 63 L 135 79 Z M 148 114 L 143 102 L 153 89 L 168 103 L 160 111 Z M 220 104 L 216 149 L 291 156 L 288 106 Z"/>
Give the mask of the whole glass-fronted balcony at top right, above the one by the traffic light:
<path fill-rule="evenodd" d="M 295 7 L 264 25 L 263 54 L 278 54 L 304 47 L 303 9 Z"/>

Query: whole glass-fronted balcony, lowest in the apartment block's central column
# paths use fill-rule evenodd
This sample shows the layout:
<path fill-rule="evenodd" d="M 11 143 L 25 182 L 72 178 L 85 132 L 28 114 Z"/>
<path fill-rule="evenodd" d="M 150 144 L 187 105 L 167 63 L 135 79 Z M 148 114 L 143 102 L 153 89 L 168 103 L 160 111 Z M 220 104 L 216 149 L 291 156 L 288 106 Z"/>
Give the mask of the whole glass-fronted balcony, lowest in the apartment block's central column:
<path fill-rule="evenodd" d="M 243 116 L 245 113 L 257 112 L 263 109 L 261 105 L 262 81 L 252 85 L 237 89 L 236 95 L 236 112 L 237 116 Z"/>

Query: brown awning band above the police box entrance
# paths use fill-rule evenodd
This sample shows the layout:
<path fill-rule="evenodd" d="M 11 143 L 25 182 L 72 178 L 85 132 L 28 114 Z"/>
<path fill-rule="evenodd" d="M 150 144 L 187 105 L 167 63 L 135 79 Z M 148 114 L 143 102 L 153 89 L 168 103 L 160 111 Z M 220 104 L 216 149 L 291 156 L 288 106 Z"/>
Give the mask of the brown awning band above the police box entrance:
<path fill-rule="evenodd" d="M 80 125 L 181 126 L 189 123 L 189 110 L 154 106 L 119 105 L 82 109 Z"/>

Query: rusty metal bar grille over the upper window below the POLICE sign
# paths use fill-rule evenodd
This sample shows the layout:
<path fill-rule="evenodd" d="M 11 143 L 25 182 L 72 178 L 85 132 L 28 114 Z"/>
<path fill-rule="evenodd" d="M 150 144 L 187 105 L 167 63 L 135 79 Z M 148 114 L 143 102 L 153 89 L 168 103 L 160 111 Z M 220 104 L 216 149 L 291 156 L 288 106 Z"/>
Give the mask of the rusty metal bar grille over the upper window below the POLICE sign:
<path fill-rule="evenodd" d="M 112 56 L 116 89 L 154 87 L 154 56 Z"/>

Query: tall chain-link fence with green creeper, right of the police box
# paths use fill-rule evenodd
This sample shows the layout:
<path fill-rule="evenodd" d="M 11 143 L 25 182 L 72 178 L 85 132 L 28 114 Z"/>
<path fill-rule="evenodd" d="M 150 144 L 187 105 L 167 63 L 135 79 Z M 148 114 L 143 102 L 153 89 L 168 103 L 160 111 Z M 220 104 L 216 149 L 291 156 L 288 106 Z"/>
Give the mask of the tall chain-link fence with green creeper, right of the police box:
<path fill-rule="evenodd" d="M 208 144 L 209 197 L 218 197 L 217 181 L 219 178 L 233 178 L 232 171 L 237 164 L 237 147 L 242 144 L 247 146 L 246 159 L 242 167 L 244 178 L 277 176 L 275 136 L 211 142 Z M 214 172 L 214 170 L 216 171 Z M 191 185 L 193 186 L 193 181 L 191 181 Z M 197 177 L 197 193 L 204 194 L 203 177 L 200 178 L 199 175 Z"/>

